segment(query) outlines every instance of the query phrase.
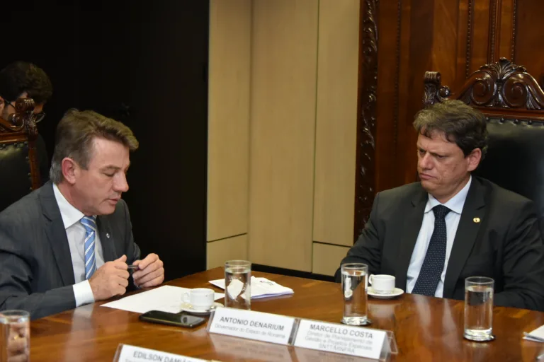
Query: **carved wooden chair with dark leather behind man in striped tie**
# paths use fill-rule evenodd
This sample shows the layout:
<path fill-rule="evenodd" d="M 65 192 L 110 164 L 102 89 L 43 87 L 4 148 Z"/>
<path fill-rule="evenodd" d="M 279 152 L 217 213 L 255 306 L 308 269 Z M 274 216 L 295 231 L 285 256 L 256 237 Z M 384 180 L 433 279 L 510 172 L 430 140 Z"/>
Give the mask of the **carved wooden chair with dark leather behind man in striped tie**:
<path fill-rule="evenodd" d="M 0 118 L 0 211 L 41 186 L 34 101 L 18 99 L 15 108 L 9 119 Z"/>

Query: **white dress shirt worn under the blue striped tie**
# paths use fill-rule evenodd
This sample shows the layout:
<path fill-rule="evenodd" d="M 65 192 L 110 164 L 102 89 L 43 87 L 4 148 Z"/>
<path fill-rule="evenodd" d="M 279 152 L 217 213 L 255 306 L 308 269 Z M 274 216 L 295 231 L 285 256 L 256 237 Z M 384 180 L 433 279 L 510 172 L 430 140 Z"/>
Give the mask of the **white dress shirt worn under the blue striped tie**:
<path fill-rule="evenodd" d="M 72 267 L 74 267 L 74 279 L 76 281 L 76 284 L 74 284 L 76 307 L 94 303 L 91 284 L 85 279 L 85 228 L 79 222 L 85 215 L 68 202 L 55 184 L 53 184 L 53 192 L 55 193 L 55 199 L 57 199 L 57 204 L 59 205 L 60 216 L 62 216 L 64 229 L 66 229 L 70 255 L 72 256 Z M 94 240 L 96 269 L 98 269 L 104 264 L 102 243 L 100 242 L 98 233 L 96 233 Z"/>

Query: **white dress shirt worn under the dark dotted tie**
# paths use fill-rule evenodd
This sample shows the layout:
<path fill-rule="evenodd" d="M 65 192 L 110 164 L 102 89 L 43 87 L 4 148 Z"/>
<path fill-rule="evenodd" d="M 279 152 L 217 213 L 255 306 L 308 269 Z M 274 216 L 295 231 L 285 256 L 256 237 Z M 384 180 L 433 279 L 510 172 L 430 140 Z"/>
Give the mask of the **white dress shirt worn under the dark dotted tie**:
<path fill-rule="evenodd" d="M 412 293 L 414 286 L 416 286 L 417 277 L 419 276 L 419 271 L 423 265 L 425 255 L 427 253 L 427 247 L 431 242 L 431 236 L 433 235 L 434 230 L 434 212 L 433 207 L 436 205 L 446 206 L 451 211 L 446 215 L 446 260 L 444 261 L 444 269 L 438 281 L 438 286 L 436 286 L 436 293 L 434 296 L 442 298 L 444 291 L 444 278 L 446 277 L 446 269 L 448 269 L 448 261 L 450 259 L 451 247 L 453 246 L 453 240 L 455 239 L 455 233 L 457 233 L 457 227 L 459 225 L 459 220 L 461 218 L 461 212 L 463 212 L 463 206 L 465 205 L 465 200 L 467 199 L 468 189 L 470 188 L 470 183 L 472 182 L 472 176 L 470 176 L 467 185 L 463 187 L 454 197 L 448 200 L 446 204 L 441 204 L 433 195 L 429 194 L 429 200 L 425 206 L 425 212 L 423 215 L 423 222 L 421 223 L 421 229 L 419 229 L 419 235 L 417 235 L 416 245 L 414 246 L 414 251 L 412 252 L 412 258 L 410 259 L 410 264 L 408 267 L 407 274 L 407 283 L 406 291 Z"/>

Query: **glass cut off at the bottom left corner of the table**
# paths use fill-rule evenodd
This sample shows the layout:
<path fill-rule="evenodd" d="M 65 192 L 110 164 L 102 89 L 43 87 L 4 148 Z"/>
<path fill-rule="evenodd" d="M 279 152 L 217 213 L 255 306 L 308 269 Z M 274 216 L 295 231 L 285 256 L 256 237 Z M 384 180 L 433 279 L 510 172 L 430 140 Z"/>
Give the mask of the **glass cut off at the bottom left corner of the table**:
<path fill-rule="evenodd" d="M 0 312 L 0 361 L 30 361 L 30 313 Z"/>

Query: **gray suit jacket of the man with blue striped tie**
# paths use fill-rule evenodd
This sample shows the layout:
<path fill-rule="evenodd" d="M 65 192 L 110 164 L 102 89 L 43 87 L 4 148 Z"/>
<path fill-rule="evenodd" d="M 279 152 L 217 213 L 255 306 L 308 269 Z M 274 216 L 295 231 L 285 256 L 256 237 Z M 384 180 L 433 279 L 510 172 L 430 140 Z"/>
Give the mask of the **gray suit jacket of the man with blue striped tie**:
<path fill-rule="evenodd" d="M 140 259 L 123 200 L 96 224 L 104 262 Z M 66 230 L 47 182 L 0 213 L 0 310 L 23 309 L 36 319 L 75 308 L 74 283 Z"/>

